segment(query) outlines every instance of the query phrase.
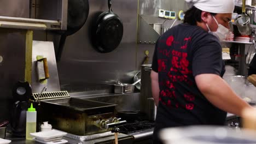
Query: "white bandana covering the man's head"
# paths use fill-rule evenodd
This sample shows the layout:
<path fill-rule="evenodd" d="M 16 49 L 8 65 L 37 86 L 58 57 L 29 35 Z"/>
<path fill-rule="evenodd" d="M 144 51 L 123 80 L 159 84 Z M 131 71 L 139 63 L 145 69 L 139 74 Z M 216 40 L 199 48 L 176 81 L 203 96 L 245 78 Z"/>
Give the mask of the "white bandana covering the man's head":
<path fill-rule="evenodd" d="M 195 6 L 197 9 L 209 13 L 224 14 L 233 13 L 235 8 L 234 0 L 185 0 L 189 7 Z"/>

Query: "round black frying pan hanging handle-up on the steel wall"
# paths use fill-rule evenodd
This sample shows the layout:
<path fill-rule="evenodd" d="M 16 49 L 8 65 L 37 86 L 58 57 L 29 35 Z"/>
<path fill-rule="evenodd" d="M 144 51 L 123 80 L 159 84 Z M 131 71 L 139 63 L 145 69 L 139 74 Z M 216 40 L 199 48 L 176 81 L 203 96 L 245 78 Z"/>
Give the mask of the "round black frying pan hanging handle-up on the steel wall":
<path fill-rule="evenodd" d="M 113 13 L 112 0 L 108 0 L 108 9 L 97 17 L 92 40 L 98 52 L 111 52 L 118 47 L 123 38 L 123 22 Z"/>

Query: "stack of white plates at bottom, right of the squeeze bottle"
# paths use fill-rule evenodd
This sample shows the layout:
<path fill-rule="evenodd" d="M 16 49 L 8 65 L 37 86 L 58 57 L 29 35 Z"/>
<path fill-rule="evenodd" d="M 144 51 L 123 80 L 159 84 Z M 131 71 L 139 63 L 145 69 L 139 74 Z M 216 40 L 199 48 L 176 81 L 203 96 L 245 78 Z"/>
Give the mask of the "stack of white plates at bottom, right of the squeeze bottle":
<path fill-rule="evenodd" d="M 61 144 L 67 143 L 67 140 L 63 140 L 62 137 L 67 133 L 59 130 L 48 130 L 48 131 L 40 131 L 38 133 L 30 133 L 34 137 L 34 140 L 40 143 L 46 144 Z"/>

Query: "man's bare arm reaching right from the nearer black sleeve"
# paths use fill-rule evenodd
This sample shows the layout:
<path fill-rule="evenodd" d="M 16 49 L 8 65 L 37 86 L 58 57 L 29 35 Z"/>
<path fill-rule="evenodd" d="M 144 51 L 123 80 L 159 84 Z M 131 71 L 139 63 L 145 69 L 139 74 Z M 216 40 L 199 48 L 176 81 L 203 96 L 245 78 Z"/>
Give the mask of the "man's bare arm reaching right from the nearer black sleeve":
<path fill-rule="evenodd" d="M 246 101 L 238 97 L 222 77 L 215 74 L 195 76 L 197 87 L 206 99 L 221 110 L 241 116 L 246 108 L 252 109 Z"/>

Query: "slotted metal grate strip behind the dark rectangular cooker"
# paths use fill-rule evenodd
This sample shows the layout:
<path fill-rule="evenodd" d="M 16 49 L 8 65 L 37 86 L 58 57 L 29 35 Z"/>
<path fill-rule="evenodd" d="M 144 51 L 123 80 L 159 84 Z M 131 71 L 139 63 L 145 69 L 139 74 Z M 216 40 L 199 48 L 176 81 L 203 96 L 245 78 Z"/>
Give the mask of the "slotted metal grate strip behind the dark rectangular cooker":
<path fill-rule="evenodd" d="M 40 93 L 32 94 L 34 99 L 37 99 L 39 95 Z M 42 93 L 38 100 L 55 99 L 55 98 L 69 98 L 69 94 L 67 91 Z"/>

